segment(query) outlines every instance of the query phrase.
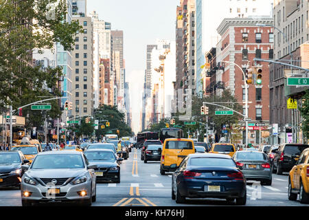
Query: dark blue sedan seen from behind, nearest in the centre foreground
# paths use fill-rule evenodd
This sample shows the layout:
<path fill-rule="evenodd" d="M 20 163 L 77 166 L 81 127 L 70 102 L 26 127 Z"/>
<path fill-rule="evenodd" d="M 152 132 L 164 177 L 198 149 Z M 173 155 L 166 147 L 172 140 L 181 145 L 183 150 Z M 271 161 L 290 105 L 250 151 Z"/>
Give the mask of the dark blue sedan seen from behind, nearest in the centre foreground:
<path fill-rule="evenodd" d="M 183 159 L 172 175 L 172 199 L 219 198 L 244 205 L 246 178 L 228 155 L 195 153 Z"/>

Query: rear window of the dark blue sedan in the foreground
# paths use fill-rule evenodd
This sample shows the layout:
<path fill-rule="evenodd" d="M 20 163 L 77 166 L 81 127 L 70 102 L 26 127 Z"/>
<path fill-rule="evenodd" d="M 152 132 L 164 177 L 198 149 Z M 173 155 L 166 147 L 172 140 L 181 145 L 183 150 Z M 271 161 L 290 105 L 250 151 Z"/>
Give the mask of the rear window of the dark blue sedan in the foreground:
<path fill-rule="evenodd" d="M 191 166 L 236 166 L 233 159 L 197 157 L 190 160 Z"/>

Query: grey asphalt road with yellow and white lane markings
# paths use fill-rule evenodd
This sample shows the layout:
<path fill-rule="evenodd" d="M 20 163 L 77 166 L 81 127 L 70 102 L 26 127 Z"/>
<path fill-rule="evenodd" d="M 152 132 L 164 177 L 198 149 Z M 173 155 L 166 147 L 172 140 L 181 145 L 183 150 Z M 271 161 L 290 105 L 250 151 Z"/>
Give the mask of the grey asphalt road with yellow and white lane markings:
<path fill-rule="evenodd" d="M 98 183 L 97 201 L 93 206 L 235 206 L 225 199 L 187 199 L 177 204 L 171 199 L 172 173 L 160 175 L 159 162 L 140 159 L 140 150 L 133 149 L 121 165 L 120 184 Z M 246 206 L 309 206 L 289 201 L 288 173 L 273 174 L 271 186 L 249 181 Z M 1 189 L 0 206 L 21 206 L 20 190 Z"/>

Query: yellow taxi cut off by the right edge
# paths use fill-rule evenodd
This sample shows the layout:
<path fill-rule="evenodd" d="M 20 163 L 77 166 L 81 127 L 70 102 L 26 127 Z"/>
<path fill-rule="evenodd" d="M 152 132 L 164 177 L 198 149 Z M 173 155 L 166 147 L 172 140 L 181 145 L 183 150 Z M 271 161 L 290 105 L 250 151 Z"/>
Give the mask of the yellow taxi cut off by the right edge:
<path fill-rule="evenodd" d="M 299 194 L 301 203 L 309 203 L 309 148 L 306 148 L 288 177 L 288 199 L 295 201 Z"/>

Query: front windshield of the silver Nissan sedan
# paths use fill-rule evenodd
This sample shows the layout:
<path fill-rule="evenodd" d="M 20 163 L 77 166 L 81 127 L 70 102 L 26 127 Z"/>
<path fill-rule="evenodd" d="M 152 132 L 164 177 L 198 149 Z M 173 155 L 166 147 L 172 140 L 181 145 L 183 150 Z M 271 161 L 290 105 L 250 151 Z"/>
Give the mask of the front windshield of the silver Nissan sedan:
<path fill-rule="evenodd" d="M 82 155 L 49 154 L 37 155 L 32 169 L 84 168 Z"/>

